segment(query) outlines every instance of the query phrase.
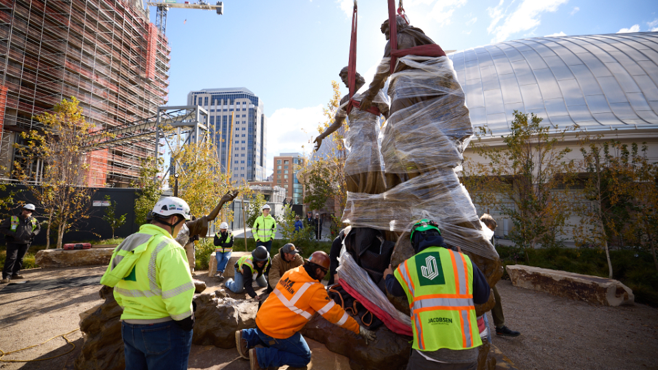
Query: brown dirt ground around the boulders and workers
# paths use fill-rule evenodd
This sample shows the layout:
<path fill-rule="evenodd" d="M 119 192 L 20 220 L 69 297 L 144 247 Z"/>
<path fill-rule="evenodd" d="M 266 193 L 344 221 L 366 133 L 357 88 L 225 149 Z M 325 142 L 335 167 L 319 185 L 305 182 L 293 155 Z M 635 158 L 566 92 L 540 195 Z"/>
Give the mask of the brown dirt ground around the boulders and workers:
<path fill-rule="evenodd" d="M 105 267 L 32 269 L 23 272 L 28 280 L 101 275 Z M 217 280 L 199 276 L 219 288 Z M 5 288 L 0 285 L 0 290 Z M 78 314 L 100 304 L 99 286 L 58 288 L 49 291 L 0 294 L 0 349 L 13 351 L 35 345 L 78 328 Z M 658 310 L 635 306 L 594 306 L 581 301 L 516 288 L 509 281 L 498 284 L 506 325 L 522 334 L 497 337 L 493 343 L 519 369 L 655 369 L 658 370 Z M 489 321 L 493 320 L 489 317 Z M 493 324 L 492 324 L 493 325 Z M 82 334 L 68 338 L 77 348 Z M 323 345 L 308 341 L 313 350 L 313 369 L 349 369 L 347 358 L 332 354 Z M 6 356 L 5 359 L 47 358 L 62 354 L 71 345 L 60 337 L 46 345 Z M 70 369 L 71 354 L 41 362 L 0 362 L 0 369 Z M 68 365 L 68 366 L 67 366 Z M 246 370 L 249 362 L 234 349 L 193 345 L 190 369 Z M 284 368 L 282 368 L 284 369 Z"/>

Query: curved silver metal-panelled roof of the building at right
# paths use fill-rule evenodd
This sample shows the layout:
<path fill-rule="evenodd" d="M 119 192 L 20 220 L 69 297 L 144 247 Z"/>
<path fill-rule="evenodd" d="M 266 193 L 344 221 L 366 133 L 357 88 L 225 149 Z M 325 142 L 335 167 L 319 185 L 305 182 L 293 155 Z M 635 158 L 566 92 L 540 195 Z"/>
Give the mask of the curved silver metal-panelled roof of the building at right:
<path fill-rule="evenodd" d="M 658 128 L 658 32 L 540 37 L 451 53 L 474 126 L 510 132 L 513 111 L 584 130 Z"/>

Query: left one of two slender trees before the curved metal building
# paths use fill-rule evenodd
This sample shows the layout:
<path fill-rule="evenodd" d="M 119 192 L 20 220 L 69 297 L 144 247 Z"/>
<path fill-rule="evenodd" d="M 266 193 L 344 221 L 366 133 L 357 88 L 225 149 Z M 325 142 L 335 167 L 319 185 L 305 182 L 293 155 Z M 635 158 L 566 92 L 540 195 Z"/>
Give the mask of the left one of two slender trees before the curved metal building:
<path fill-rule="evenodd" d="M 525 252 L 539 243 L 560 245 L 566 220 L 571 214 L 573 194 L 568 188 L 576 178 L 576 166 L 561 147 L 568 128 L 557 133 L 542 126 L 535 114 L 514 112 L 511 134 L 503 138 L 504 147 L 481 143 L 491 130 L 480 128 L 474 152 L 484 163 L 465 163 L 464 184 L 475 194 L 480 207 L 500 210 L 513 222 L 509 238 Z"/>

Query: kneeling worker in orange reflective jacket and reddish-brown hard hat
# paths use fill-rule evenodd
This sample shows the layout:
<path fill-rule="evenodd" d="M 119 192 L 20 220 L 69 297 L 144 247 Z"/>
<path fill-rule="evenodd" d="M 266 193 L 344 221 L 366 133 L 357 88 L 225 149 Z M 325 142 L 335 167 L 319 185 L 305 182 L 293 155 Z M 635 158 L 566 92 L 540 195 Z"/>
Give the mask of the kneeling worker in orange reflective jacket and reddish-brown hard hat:
<path fill-rule="evenodd" d="M 305 367 L 310 349 L 300 330 L 318 312 L 341 328 L 374 340 L 375 333 L 360 327 L 341 306 L 329 298 L 321 283 L 329 269 L 329 256 L 315 251 L 303 266 L 284 273 L 256 314 L 256 328 L 235 332 L 238 352 L 251 369 Z M 263 345 L 265 348 L 254 348 Z M 248 356 L 247 356 L 248 351 Z"/>

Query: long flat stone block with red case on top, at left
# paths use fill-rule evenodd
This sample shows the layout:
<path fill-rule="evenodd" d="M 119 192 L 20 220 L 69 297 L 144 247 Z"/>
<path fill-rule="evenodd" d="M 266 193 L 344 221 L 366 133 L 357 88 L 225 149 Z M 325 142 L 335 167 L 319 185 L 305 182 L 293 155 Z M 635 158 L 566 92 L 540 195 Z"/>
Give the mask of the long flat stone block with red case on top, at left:
<path fill-rule="evenodd" d="M 109 264 L 113 248 L 92 248 L 65 251 L 64 249 L 42 249 L 36 253 L 36 264 L 42 269 L 49 267 L 90 266 Z"/>

